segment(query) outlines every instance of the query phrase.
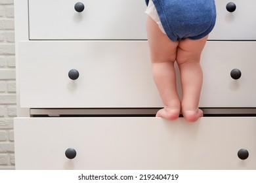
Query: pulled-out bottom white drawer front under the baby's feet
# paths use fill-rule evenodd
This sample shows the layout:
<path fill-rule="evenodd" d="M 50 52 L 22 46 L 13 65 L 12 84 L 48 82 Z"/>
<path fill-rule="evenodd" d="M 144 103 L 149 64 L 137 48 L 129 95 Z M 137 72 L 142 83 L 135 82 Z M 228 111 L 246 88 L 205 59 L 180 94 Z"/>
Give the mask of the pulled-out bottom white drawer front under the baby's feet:
<path fill-rule="evenodd" d="M 256 118 L 16 118 L 16 169 L 256 169 L 255 127 Z"/>

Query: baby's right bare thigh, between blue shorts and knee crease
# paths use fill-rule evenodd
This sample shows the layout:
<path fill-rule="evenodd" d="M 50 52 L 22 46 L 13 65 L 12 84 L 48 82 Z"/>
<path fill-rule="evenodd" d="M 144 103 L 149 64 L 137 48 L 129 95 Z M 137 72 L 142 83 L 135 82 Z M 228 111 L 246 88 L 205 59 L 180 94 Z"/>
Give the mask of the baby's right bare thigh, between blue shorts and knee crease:
<path fill-rule="evenodd" d="M 205 36 L 198 40 L 187 38 L 179 41 L 179 46 L 177 48 L 177 63 L 199 62 L 207 37 L 208 36 Z"/>

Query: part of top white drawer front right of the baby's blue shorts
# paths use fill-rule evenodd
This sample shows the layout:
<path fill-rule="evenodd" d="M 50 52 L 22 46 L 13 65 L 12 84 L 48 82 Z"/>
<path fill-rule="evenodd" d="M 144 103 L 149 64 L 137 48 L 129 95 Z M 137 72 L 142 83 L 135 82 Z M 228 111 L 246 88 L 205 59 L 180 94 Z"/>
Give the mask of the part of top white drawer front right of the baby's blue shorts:
<path fill-rule="evenodd" d="M 215 0 L 215 4 L 217 20 L 209 40 L 256 40 L 255 0 Z"/>

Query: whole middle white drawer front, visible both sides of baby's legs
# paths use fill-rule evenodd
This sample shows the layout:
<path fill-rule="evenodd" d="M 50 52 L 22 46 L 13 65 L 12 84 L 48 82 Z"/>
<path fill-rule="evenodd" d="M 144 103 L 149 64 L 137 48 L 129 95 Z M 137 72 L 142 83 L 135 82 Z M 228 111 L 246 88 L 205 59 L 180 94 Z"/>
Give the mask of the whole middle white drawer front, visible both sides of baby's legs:
<path fill-rule="evenodd" d="M 256 42 L 207 42 L 200 107 L 256 107 L 255 48 Z M 146 41 L 19 42 L 19 68 L 24 108 L 162 107 Z M 76 80 L 68 77 L 72 69 Z M 233 69 L 239 79 L 230 76 Z"/>

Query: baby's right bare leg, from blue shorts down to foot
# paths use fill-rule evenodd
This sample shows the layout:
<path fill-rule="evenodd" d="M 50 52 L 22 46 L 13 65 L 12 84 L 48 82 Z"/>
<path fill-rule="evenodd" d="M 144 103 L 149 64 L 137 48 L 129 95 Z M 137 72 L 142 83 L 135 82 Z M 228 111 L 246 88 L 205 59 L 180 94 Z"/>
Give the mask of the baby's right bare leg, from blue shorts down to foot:
<path fill-rule="evenodd" d="M 182 84 L 181 110 L 184 118 L 190 122 L 195 122 L 203 116 L 198 103 L 203 81 L 200 56 L 206 41 L 207 36 L 199 40 L 184 39 L 179 41 L 177 49 Z"/>

